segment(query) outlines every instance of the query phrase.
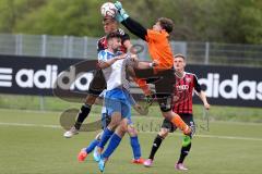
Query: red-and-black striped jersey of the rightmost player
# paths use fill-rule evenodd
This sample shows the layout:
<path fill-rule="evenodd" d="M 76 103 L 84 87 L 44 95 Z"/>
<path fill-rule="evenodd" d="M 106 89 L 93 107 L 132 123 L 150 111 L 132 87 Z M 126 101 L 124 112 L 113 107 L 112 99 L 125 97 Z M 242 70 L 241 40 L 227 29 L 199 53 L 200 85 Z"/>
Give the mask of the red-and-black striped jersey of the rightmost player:
<path fill-rule="evenodd" d="M 184 72 L 182 77 L 176 75 L 176 85 L 174 87 L 174 108 L 176 113 L 192 114 L 192 98 L 194 90 L 200 92 L 201 86 L 195 74 Z"/>

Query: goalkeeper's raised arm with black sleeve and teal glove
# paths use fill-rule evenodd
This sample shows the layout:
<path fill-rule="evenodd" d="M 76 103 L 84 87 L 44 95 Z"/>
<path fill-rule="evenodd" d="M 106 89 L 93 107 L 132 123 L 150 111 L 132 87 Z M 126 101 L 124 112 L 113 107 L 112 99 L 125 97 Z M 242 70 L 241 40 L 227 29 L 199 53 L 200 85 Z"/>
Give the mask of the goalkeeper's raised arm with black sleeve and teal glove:
<path fill-rule="evenodd" d="M 143 27 L 140 23 L 132 20 L 124 9 L 122 9 L 121 2 L 117 1 L 115 7 L 118 9 L 118 14 L 116 20 L 120 22 L 127 29 L 129 29 L 132 34 L 140 37 L 141 39 L 145 40 L 145 36 L 147 35 L 147 30 Z"/>

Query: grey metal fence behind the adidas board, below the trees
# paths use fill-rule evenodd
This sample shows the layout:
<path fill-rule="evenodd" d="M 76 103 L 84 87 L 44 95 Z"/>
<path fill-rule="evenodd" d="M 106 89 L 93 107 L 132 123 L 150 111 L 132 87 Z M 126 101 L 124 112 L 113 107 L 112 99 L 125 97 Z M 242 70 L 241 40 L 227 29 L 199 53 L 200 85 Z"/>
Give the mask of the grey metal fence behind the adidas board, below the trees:
<path fill-rule="evenodd" d="M 96 59 L 98 38 L 49 35 L 0 34 L 0 54 Z M 148 60 L 144 41 L 132 40 L 143 46 L 142 60 Z M 171 41 L 174 52 L 187 55 L 188 63 L 262 66 L 262 46 L 216 42 Z"/>

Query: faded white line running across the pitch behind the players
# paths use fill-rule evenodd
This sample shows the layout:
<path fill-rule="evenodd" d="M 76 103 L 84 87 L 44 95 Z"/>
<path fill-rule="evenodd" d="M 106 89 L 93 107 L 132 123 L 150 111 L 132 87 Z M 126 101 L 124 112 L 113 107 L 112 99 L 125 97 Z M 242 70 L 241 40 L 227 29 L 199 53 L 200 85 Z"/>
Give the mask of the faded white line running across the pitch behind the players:
<path fill-rule="evenodd" d="M 44 127 L 44 128 L 58 128 L 62 129 L 59 125 L 41 125 L 41 124 L 27 124 L 27 123 L 3 123 L 0 122 L 0 126 L 22 126 L 22 127 Z M 140 134 L 156 134 L 156 132 L 140 132 Z M 181 136 L 181 134 L 170 134 L 171 136 Z M 194 137 L 201 138 L 218 138 L 218 139 L 231 139 L 231 140 L 253 140 L 262 141 L 262 138 L 241 137 L 241 136 L 223 136 L 223 135 L 194 135 Z"/>

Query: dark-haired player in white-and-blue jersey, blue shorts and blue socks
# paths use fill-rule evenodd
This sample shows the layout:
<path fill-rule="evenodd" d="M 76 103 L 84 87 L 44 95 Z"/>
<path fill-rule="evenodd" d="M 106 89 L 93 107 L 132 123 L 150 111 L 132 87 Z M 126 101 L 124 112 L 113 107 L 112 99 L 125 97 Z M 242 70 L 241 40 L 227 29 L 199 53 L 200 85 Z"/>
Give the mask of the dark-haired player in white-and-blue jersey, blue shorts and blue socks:
<path fill-rule="evenodd" d="M 99 66 L 103 70 L 107 92 L 105 96 L 105 105 L 111 122 L 104 129 L 102 140 L 98 144 L 98 150 L 102 152 L 104 146 L 110 138 L 107 149 L 102 152 L 98 163 L 103 172 L 105 163 L 119 146 L 128 128 L 128 120 L 131 116 L 131 97 L 129 94 L 129 82 L 126 77 L 126 65 L 129 59 L 127 54 L 118 53 L 118 47 L 121 46 L 118 33 L 111 33 L 107 36 L 108 48 L 98 53 Z"/>

